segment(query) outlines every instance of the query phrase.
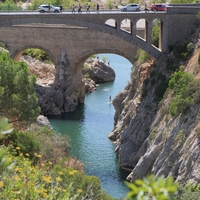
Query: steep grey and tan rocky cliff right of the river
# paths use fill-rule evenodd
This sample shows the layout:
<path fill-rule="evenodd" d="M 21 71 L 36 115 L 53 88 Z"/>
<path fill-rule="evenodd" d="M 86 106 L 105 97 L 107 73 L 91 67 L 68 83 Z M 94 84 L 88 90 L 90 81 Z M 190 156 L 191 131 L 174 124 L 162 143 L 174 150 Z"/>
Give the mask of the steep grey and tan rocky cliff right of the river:
<path fill-rule="evenodd" d="M 200 182 L 200 105 L 172 116 L 168 110 L 173 93 L 166 90 L 175 66 L 199 78 L 199 38 L 197 31 L 190 39 L 195 49 L 189 60 L 178 59 L 172 51 L 156 62 L 136 64 L 130 83 L 113 100 L 115 128 L 108 137 L 115 140 L 121 168 L 130 170 L 129 181 L 152 173 Z"/>

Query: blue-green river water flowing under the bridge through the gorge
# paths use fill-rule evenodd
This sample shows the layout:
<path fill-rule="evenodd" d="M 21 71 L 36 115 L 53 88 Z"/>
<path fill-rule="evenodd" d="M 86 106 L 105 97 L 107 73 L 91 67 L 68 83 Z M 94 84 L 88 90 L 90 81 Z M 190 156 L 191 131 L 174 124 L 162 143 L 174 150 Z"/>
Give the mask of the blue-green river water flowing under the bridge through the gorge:
<path fill-rule="evenodd" d="M 107 137 L 113 130 L 115 113 L 109 98 L 124 90 L 132 64 L 115 54 L 99 54 L 100 60 L 102 57 L 107 58 L 106 63 L 110 61 L 115 81 L 100 84 L 96 91 L 86 94 L 85 103 L 75 112 L 48 118 L 54 130 L 69 136 L 71 155 L 84 163 L 86 174 L 99 177 L 102 189 L 120 199 L 128 192 L 124 184 L 128 173 L 119 168 L 115 145 Z"/>

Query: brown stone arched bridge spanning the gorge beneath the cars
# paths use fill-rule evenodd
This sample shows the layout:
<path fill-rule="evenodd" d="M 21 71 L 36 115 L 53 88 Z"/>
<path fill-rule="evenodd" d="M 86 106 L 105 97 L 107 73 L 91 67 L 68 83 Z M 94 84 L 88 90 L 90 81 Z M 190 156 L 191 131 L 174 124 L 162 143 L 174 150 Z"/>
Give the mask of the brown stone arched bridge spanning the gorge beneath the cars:
<path fill-rule="evenodd" d="M 132 63 L 137 48 L 156 59 L 167 54 L 169 45 L 195 31 L 194 21 L 199 8 L 169 6 L 164 13 L 0 13 L 0 41 L 15 60 L 19 60 L 27 48 L 47 52 L 56 67 L 55 83 L 62 83 L 65 89 L 73 85 L 72 92 L 82 84 L 83 63 L 93 54 L 115 53 Z M 161 22 L 158 47 L 152 45 L 155 19 Z M 141 20 L 144 24 L 139 27 L 137 24 Z M 123 28 L 123 23 L 128 23 L 129 28 Z M 79 101 L 82 101 L 79 93 Z"/>

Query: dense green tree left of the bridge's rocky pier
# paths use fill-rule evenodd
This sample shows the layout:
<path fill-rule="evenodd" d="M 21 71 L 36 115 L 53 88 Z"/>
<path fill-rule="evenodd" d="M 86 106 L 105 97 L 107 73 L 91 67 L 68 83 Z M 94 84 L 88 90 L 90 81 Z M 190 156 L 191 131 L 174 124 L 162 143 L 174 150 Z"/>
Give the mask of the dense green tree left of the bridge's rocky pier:
<path fill-rule="evenodd" d="M 35 121 L 40 113 L 35 82 L 25 62 L 14 62 L 0 52 L 0 113 L 13 122 Z"/>

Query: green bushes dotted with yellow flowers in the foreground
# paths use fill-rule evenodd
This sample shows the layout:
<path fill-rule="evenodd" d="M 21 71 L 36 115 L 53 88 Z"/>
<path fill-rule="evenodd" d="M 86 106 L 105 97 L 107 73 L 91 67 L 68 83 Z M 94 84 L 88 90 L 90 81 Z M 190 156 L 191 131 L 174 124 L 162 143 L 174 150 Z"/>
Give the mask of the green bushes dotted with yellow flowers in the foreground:
<path fill-rule="evenodd" d="M 0 120 L 1 137 L 5 131 L 12 131 L 12 126 L 3 118 Z M 44 132 L 40 131 L 40 134 L 42 133 Z M 23 135 L 21 136 L 23 138 Z M 15 139 L 14 143 L 19 145 L 24 143 L 21 145 L 24 148 L 26 141 L 18 140 L 19 138 Z M 32 145 L 27 145 L 27 149 L 34 150 Z M 62 157 L 53 163 L 38 152 L 31 156 L 19 146 L 9 145 L 5 147 L 1 145 L 0 199 L 5 199 L 5 197 L 7 199 L 30 200 L 113 199 L 101 190 L 99 178 L 87 176 L 83 170 L 69 167 L 70 161 L 69 157 Z"/>

